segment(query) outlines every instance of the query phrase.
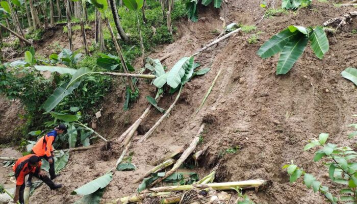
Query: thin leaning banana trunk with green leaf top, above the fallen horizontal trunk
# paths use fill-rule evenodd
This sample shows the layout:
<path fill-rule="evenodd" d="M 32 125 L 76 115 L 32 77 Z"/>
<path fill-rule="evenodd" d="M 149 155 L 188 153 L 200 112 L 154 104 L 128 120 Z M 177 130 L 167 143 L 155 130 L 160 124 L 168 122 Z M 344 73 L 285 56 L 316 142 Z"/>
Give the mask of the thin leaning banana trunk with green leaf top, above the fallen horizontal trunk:
<path fill-rule="evenodd" d="M 119 59 L 120 59 L 120 62 L 123 66 L 123 70 L 124 70 L 124 73 L 129 73 L 129 69 L 127 68 L 126 64 L 125 64 L 125 60 L 124 60 L 124 56 L 122 55 L 121 53 L 121 48 L 118 44 L 118 42 L 116 41 L 116 38 L 115 38 L 115 35 L 114 35 L 114 32 L 113 32 L 113 29 L 110 25 L 110 22 L 108 20 L 108 17 L 106 16 L 105 12 L 108 10 L 108 2 L 107 0 L 90 0 L 90 3 L 94 5 L 95 8 L 98 9 L 98 11 L 103 14 L 104 18 L 105 18 L 105 21 L 107 23 L 107 27 L 110 31 L 110 34 L 112 36 L 112 40 L 114 42 L 114 46 L 115 46 L 115 49 L 118 53 L 118 56 L 119 56 Z M 129 85 L 129 87 L 131 88 L 132 92 L 135 92 L 136 91 L 136 88 L 135 88 L 135 85 L 132 81 L 132 79 L 130 77 L 127 77 L 127 84 Z"/>

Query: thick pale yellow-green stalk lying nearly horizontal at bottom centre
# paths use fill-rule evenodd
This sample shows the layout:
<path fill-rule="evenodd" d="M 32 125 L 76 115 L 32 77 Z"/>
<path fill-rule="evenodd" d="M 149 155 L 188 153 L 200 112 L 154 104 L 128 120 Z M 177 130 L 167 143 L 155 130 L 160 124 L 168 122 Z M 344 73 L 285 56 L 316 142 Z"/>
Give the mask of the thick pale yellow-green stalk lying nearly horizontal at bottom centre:
<path fill-rule="evenodd" d="M 177 163 L 176 163 L 177 164 Z M 213 183 L 213 184 L 192 184 L 183 186 L 163 186 L 157 188 L 150 188 L 142 191 L 142 194 L 152 192 L 164 192 L 164 191 L 189 191 L 193 188 L 206 189 L 212 188 L 214 190 L 232 190 L 232 188 L 240 187 L 242 189 L 258 188 L 266 184 L 265 180 L 248 180 L 240 182 L 225 182 L 225 183 Z"/>

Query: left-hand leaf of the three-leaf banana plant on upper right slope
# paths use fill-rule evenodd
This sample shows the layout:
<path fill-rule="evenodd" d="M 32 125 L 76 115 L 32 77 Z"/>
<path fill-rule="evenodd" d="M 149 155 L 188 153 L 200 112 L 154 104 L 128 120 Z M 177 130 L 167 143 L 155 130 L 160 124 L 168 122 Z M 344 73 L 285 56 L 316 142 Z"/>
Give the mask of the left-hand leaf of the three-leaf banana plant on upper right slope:
<path fill-rule="evenodd" d="M 289 29 L 274 35 L 267 42 L 265 42 L 258 50 L 257 55 L 265 59 L 279 53 L 283 50 L 287 42 L 299 35 L 299 32 L 291 33 Z"/>

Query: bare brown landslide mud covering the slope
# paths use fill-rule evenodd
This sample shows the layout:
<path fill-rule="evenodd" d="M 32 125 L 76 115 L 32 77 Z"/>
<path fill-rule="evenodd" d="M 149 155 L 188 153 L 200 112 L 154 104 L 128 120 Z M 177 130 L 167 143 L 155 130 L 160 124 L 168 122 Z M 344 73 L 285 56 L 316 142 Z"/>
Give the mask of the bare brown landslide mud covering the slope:
<path fill-rule="evenodd" d="M 267 4 L 270 2 L 267 1 Z M 173 53 L 163 62 L 167 67 L 172 67 L 177 60 L 192 55 L 217 37 L 216 30 L 220 33 L 222 29 L 219 17 L 223 17 L 227 24 L 242 22 L 251 25 L 258 22 L 264 14 L 260 3 L 259 0 L 231 0 L 223 4 L 220 10 L 200 8 L 199 21 L 192 23 L 182 20 L 177 25 L 179 37 L 176 41 L 163 46 L 160 53 L 151 57 L 159 58 Z M 278 55 L 263 60 L 256 52 L 272 35 L 291 24 L 306 27 L 321 25 L 330 18 L 355 10 L 313 1 L 309 8 L 263 19 L 257 25 L 257 31 L 263 32 L 257 44 L 247 42 L 251 34 L 240 33 L 197 56 L 195 62 L 199 62 L 201 67 L 211 65 L 211 71 L 185 85 L 170 116 L 146 142 L 133 142 L 126 156 L 131 155 L 137 170 L 116 171 L 102 202 L 134 194 L 138 184 L 133 182 L 152 168 L 150 161 L 191 143 L 200 124 L 205 122 L 203 144 L 197 149 L 210 143 L 207 160 L 212 162 L 185 171 L 197 172 L 202 177 L 219 163 L 216 181 L 258 178 L 271 181 L 271 185 L 263 191 L 246 191 L 257 203 L 326 203 L 323 196 L 307 190 L 301 182 L 290 184 L 282 166 L 293 160 L 324 185 L 331 187 L 325 177 L 327 169 L 321 163 L 313 162 L 313 154 L 303 151 L 303 146 L 310 138 L 325 132 L 330 134 L 329 142 L 355 147 L 357 139 L 347 139 L 351 131 L 347 125 L 356 122 L 352 115 L 357 113 L 357 89 L 340 73 L 346 67 L 357 67 L 356 35 L 350 33 L 352 29 L 357 29 L 357 20 L 346 25 L 343 32 L 328 36 L 330 48 L 323 60 L 317 59 L 308 46 L 286 75 L 275 74 Z M 193 117 L 220 68 L 222 73 L 206 104 Z M 124 87 L 120 81 L 118 79 L 114 93 L 106 98 L 102 117 L 97 123 L 98 132 L 113 140 L 139 118 L 147 106 L 145 96 L 152 96 L 155 92 L 153 86 L 144 80 L 139 81 L 138 103 L 124 112 Z M 159 106 L 167 109 L 174 97 L 165 95 Z M 151 110 L 141 124 L 137 137 L 145 134 L 160 117 L 160 112 Z M 236 146 L 241 147 L 236 154 L 222 154 L 227 148 Z M 42 186 L 35 191 L 30 202 L 73 203 L 80 196 L 70 195 L 70 192 L 113 168 L 121 153 L 119 147 L 120 144 L 112 145 L 115 155 L 109 157 L 108 161 L 99 157 L 102 154 L 99 148 L 71 152 L 70 165 L 56 179 L 64 188 L 51 195 L 42 193 L 49 190 Z"/>

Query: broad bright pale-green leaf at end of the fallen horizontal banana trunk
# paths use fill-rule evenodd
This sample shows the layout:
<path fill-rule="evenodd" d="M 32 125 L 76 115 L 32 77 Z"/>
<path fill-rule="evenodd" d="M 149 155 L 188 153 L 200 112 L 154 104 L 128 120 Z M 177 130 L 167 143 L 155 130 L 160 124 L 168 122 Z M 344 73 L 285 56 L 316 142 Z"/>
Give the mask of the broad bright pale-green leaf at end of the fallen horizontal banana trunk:
<path fill-rule="evenodd" d="M 190 65 L 190 58 L 183 57 L 175 65 L 173 65 L 172 69 L 168 72 L 167 76 L 167 85 L 172 88 L 176 88 L 181 84 L 181 80 L 185 75 L 185 70 Z"/>

